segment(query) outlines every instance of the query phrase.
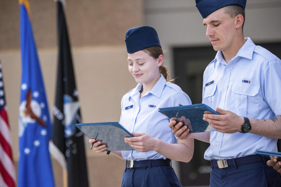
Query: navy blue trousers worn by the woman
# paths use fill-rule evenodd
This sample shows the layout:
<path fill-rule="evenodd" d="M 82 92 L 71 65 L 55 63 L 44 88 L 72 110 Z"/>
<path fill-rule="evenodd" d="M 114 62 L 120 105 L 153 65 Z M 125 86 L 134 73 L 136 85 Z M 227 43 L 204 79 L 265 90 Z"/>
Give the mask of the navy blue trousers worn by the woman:
<path fill-rule="evenodd" d="M 123 172 L 122 187 L 182 187 L 171 166 L 126 168 Z"/>

